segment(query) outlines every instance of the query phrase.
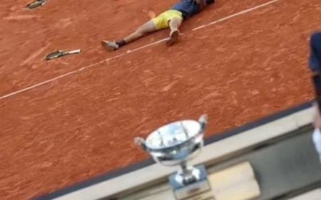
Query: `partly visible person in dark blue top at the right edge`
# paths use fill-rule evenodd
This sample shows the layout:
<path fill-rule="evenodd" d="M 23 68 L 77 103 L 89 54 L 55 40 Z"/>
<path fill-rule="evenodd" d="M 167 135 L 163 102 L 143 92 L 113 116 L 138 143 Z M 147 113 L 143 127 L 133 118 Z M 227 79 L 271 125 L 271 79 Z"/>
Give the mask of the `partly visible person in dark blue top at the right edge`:
<path fill-rule="evenodd" d="M 313 103 L 315 112 L 313 125 L 315 131 L 313 132 L 312 140 L 321 162 L 321 32 L 312 33 L 310 38 L 309 68 L 312 72 L 311 78 L 315 88 L 315 102 Z"/>

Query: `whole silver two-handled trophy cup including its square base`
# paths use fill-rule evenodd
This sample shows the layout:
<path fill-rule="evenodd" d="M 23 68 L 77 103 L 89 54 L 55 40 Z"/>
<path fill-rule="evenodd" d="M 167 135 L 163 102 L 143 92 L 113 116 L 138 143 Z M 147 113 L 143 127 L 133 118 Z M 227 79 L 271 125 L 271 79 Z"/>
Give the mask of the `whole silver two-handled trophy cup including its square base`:
<path fill-rule="evenodd" d="M 179 165 L 180 171 L 168 177 L 176 199 L 214 199 L 210 191 L 205 167 L 192 167 L 187 162 L 203 148 L 203 134 L 208 122 L 206 115 L 196 120 L 172 122 L 152 132 L 146 140 L 136 137 L 135 142 L 153 159 L 164 166 Z"/>

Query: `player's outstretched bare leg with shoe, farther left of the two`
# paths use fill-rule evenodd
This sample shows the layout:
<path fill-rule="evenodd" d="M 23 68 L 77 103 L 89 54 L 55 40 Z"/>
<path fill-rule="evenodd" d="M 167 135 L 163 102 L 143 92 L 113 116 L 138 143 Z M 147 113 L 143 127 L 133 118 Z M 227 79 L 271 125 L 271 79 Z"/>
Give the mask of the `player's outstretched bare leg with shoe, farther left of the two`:
<path fill-rule="evenodd" d="M 115 51 L 121 46 L 125 46 L 127 43 L 131 43 L 133 41 L 138 40 L 139 38 L 146 36 L 148 33 L 152 33 L 154 31 L 157 31 L 157 28 L 153 21 L 148 21 L 144 23 L 142 26 L 136 29 L 133 33 L 131 33 L 129 36 L 126 36 L 125 38 L 118 40 L 116 42 L 111 41 L 101 41 L 101 45 L 103 48 L 105 48 L 108 51 Z"/>

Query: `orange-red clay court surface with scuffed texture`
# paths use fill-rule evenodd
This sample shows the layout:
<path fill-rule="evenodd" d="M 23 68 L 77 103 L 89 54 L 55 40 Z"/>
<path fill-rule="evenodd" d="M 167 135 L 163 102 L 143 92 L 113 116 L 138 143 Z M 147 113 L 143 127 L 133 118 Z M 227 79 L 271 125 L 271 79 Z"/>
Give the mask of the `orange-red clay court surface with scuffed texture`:
<path fill-rule="evenodd" d="M 307 44 L 321 28 L 320 0 L 279 0 L 192 31 L 268 2 L 218 0 L 186 21 L 177 45 L 146 47 L 168 36 L 161 31 L 113 53 L 101 39 L 133 31 L 175 0 L 59 0 L 33 11 L 28 2 L 0 6 L 1 199 L 146 159 L 133 138 L 166 122 L 205 112 L 210 135 L 312 99 Z M 83 52 L 43 60 L 73 48 Z"/>

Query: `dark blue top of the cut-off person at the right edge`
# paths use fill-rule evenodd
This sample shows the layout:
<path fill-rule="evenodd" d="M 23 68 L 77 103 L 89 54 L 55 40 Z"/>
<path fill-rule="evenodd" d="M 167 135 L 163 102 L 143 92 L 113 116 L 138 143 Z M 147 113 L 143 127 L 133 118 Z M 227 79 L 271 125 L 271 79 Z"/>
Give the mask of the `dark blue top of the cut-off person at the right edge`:
<path fill-rule="evenodd" d="M 312 33 L 310 38 L 309 68 L 321 73 L 321 32 Z"/>

